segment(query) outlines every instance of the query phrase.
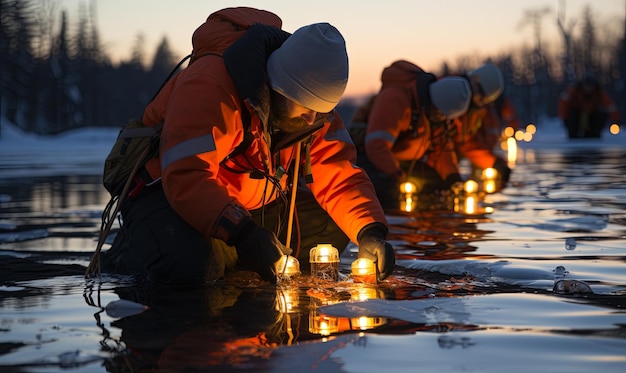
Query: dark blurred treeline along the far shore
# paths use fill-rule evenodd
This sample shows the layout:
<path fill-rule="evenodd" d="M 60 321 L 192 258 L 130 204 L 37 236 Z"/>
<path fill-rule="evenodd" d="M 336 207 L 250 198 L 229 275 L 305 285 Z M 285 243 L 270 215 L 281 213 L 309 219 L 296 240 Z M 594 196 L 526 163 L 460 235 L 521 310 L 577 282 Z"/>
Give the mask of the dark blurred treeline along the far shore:
<path fill-rule="evenodd" d="M 3 120 L 24 131 L 55 134 L 84 126 L 119 127 L 141 115 L 182 56 L 174 56 L 163 38 L 153 57 L 146 58 L 144 38 L 139 34 L 129 60 L 113 64 L 100 40 L 95 7 L 95 1 L 79 5 L 78 19 L 70 23 L 67 12 L 58 9 L 54 0 L 0 0 Z M 459 57 L 454 67 L 444 63 L 433 73 L 463 73 L 486 60 L 495 63 L 505 77 L 505 94 L 526 123 L 554 116 L 560 92 L 576 78 L 594 74 L 624 117 L 624 20 L 620 27 L 613 25 L 611 33 L 594 21 L 590 7 L 579 22 L 566 26 L 557 19 L 554 27 L 559 27 L 562 44 L 550 53 L 541 44 L 538 26 L 549 13 L 549 9 L 539 9 L 524 14 L 527 24 L 534 27 L 532 45 L 481 60 Z M 346 108 L 358 101 L 346 97 L 341 112 L 350 112 Z"/>

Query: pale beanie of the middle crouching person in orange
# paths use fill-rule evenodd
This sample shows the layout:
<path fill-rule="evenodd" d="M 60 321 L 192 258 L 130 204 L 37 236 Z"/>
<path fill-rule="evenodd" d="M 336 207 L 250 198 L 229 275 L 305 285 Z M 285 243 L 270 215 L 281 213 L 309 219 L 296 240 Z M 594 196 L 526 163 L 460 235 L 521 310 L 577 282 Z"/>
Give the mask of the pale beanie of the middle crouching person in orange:
<path fill-rule="evenodd" d="M 467 79 L 448 76 L 432 82 L 428 89 L 430 100 L 448 119 L 465 114 L 472 100 L 472 89 Z"/>

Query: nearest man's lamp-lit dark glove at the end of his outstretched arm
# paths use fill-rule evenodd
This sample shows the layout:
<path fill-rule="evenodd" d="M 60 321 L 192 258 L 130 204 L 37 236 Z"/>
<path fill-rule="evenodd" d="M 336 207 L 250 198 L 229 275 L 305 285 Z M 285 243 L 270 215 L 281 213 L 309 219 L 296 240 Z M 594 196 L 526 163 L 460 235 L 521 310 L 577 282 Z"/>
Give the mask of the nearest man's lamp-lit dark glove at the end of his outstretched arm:
<path fill-rule="evenodd" d="M 379 280 L 389 276 L 396 266 L 396 254 L 386 237 L 387 228 L 381 223 L 367 225 L 357 236 L 359 258 L 366 258 L 377 264 Z"/>

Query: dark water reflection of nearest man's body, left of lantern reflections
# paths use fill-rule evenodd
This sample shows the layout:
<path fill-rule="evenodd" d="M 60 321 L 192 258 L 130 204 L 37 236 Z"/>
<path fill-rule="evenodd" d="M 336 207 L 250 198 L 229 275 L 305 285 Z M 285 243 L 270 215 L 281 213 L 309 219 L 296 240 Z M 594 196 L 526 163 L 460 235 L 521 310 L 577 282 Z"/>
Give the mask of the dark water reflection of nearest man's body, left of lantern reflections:
<path fill-rule="evenodd" d="M 122 330 L 126 345 L 123 354 L 107 362 L 111 366 L 188 371 L 270 353 L 266 332 L 279 318 L 274 292 L 235 286 L 130 287 L 116 292 L 148 309 L 111 323 Z"/>

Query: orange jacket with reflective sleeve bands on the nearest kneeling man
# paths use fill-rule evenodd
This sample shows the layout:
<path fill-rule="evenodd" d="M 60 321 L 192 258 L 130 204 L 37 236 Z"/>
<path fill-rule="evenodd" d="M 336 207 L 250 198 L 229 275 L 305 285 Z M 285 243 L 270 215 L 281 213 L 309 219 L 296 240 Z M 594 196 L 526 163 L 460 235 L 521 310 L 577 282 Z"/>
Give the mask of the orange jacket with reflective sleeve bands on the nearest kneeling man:
<path fill-rule="evenodd" d="M 266 124 L 265 62 L 288 34 L 278 29 L 277 17 L 269 22 L 263 18 L 274 27 L 252 26 L 225 50 L 224 40 L 234 40 L 241 33 L 241 25 L 233 25 L 241 22 L 237 16 L 228 22 L 221 14 L 217 19 L 210 16 L 196 30 L 194 60 L 164 86 L 143 116 L 147 125 L 164 122 L 159 158 L 147 168 L 152 177 L 162 176 L 168 202 L 205 236 L 226 242 L 249 216 L 248 210 L 285 193 L 287 176 L 282 174 L 289 170 L 296 149 L 293 142 L 281 146 L 279 134 Z M 250 26 L 259 20 L 244 17 L 243 22 Z M 259 34 L 261 39 L 254 39 Z M 356 151 L 340 117 L 318 114 L 312 129 L 316 131 L 304 134 L 311 138 L 313 182 L 307 186 L 357 242 L 357 234 L 366 225 L 386 225 L 383 210 L 367 175 L 353 166 Z M 249 145 L 233 154 L 244 137 L 250 139 Z"/>

